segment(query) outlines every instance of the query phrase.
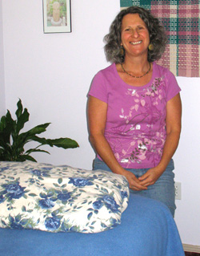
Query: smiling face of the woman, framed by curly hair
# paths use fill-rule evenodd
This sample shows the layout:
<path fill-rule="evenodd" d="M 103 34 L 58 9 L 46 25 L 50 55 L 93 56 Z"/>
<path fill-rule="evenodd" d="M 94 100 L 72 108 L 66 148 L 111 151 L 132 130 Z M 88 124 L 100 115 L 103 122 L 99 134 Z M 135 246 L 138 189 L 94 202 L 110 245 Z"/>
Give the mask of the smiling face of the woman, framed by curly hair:
<path fill-rule="evenodd" d="M 126 14 L 122 18 L 121 40 L 126 56 L 146 55 L 147 58 L 150 35 L 139 14 Z"/>

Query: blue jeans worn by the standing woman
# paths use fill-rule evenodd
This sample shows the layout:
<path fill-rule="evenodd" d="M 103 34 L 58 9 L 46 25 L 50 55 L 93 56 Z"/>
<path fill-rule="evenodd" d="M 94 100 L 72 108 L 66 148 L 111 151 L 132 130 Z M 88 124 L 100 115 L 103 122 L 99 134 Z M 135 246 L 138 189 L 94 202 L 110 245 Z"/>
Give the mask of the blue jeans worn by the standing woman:
<path fill-rule="evenodd" d="M 102 169 L 111 172 L 110 168 L 97 157 L 94 159 L 94 170 Z M 136 177 L 141 177 L 148 169 L 126 169 L 131 173 L 134 173 Z M 142 197 L 149 197 L 158 201 L 162 201 L 172 213 L 174 217 L 176 205 L 175 205 L 175 189 L 174 189 L 174 161 L 171 159 L 166 170 L 162 173 L 162 176 L 158 178 L 158 181 L 154 185 L 148 186 L 147 190 L 135 191 L 130 189 L 131 193 L 140 195 Z"/>

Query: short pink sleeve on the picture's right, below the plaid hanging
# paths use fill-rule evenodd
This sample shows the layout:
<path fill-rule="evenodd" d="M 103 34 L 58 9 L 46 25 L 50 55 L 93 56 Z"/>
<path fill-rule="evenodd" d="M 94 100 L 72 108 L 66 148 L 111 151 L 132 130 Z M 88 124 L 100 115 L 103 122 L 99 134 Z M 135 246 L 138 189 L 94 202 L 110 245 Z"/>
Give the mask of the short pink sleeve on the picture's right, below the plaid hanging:
<path fill-rule="evenodd" d="M 168 84 L 167 84 L 167 91 L 166 91 L 166 101 L 171 100 L 174 98 L 175 95 L 181 91 L 181 88 L 178 86 L 177 80 L 170 71 L 168 71 Z"/>

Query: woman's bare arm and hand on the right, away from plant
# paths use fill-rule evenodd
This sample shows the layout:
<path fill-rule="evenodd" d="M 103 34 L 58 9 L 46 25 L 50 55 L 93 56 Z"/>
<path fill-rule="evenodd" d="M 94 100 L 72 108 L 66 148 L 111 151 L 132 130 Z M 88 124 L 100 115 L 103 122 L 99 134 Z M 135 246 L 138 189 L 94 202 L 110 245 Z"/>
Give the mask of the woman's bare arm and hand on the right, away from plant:
<path fill-rule="evenodd" d="M 175 95 L 166 104 L 166 142 L 161 161 L 156 167 L 149 169 L 146 174 L 138 178 L 142 181 L 141 185 L 153 185 L 158 180 L 158 177 L 164 173 L 166 166 L 169 164 L 170 159 L 178 147 L 181 133 L 181 118 L 182 103 L 178 93 L 178 95 Z"/>

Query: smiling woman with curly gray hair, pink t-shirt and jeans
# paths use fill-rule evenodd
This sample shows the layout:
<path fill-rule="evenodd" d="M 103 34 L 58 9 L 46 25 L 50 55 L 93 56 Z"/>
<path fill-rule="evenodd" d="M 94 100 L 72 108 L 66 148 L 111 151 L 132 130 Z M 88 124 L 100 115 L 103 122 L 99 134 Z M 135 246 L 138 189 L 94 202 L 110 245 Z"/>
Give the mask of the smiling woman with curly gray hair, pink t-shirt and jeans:
<path fill-rule="evenodd" d="M 105 41 L 112 64 L 94 76 L 88 102 L 94 170 L 125 176 L 131 192 L 162 201 L 174 216 L 172 156 L 182 107 L 174 75 L 154 62 L 165 51 L 164 28 L 131 6 L 114 19 Z"/>

